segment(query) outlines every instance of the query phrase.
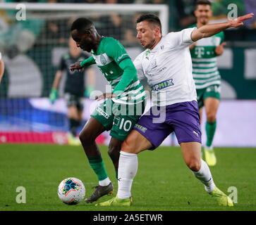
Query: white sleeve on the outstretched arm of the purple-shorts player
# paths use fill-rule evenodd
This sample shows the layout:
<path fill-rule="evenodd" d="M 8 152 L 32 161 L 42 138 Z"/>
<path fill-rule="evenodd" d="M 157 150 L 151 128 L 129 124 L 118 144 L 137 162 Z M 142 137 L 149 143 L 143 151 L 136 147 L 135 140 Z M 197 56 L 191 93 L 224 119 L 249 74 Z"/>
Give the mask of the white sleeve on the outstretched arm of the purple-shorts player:
<path fill-rule="evenodd" d="M 195 29 L 197 29 L 197 27 L 187 28 L 179 32 L 171 32 L 167 34 L 167 39 L 173 47 L 180 46 L 181 48 L 184 48 L 190 46 L 190 44 L 194 43 L 191 39 L 191 33 Z"/>

